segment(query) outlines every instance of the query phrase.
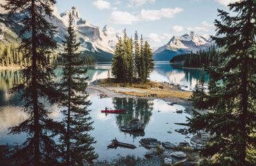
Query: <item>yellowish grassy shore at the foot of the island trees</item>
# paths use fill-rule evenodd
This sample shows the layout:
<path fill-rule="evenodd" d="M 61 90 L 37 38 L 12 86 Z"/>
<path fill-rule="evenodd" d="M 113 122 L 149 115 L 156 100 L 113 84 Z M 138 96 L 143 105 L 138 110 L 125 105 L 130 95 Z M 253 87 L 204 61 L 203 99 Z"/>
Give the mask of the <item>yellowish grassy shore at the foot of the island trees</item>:
<path fill-rule="evenodd" d="M 116 93 L 137 97 L 188 99 L 192 95 L 192 92 L 182 91 L 179 86 L 168 84 L 167 82 L 149 81 L 143 84 L 120 84 L 113 82 L 113 80 L 104 79 L 100 80 L 99 85 Z"/>

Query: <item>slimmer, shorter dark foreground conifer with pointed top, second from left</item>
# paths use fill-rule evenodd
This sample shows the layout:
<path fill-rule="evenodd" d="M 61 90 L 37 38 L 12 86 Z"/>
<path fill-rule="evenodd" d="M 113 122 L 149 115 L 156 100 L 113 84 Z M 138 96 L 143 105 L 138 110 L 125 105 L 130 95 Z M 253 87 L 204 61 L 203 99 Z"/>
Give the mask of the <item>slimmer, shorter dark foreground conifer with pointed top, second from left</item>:
<path fill-rule="evenodd" d="M 86 70 L 83 69 L 83 62 L 80 53 L 77 52 L 80 43 L 76 42 L 75 30 L 73 28 L 72 15 L 69 15 L 68 35 L 64 41 L 64 68 L 60 91 L 62 91 L 61 104 L 64 109 L 64 132 L 61 134 L 62 156 L 64 165 L 85 165 L 98 155 L 91 146 L 95 143 L 94 138 L 88 133 L 93 130 L 91 117 L 87 107 L 91 104 L 86 98 L 88 77 L 81 77 Z"/>

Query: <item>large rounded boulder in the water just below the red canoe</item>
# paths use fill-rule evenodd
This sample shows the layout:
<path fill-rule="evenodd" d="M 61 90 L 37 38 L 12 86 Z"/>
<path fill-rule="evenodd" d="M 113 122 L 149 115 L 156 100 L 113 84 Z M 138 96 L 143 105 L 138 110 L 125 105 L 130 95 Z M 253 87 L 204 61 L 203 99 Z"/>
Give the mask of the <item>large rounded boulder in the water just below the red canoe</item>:
<path fill-rule="evenodd" d="M 121 127 L 121 131 L 144 131 L 145 124 L 138 119 L 132 119 L 127 125 Z"/>

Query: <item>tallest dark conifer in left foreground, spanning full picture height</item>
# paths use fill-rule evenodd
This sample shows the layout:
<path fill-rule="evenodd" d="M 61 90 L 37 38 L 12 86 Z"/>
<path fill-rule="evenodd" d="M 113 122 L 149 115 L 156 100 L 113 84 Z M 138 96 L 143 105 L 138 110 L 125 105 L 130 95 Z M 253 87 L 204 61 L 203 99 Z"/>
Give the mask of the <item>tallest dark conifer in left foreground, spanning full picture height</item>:
<path fill-rule="evenodd" d="M 22 165 L 57 163 L 57 146 L 53 140 L 56 123 L 48 117 L 51 112 L 44 107 L 44 102 L 52 102 L 56 95 L 49 58 L 57 48 L 55 27 L 46 20 L 46 17 L 51 17 L 54 4 L 55 0 L 6 0 L 3 6 L 10 14 L 19 13 L 24 26 L 20 32 L 22 41 L 19 50 L 24 53 L 24 59 L 31 62 L 21 70 L 24 83 L 12 89 L 12 92 L 22 93 L 24 111 L 29 114 L 28 120 L 10 131 L 28 134 L 26 142 L 14 155 Z"/>

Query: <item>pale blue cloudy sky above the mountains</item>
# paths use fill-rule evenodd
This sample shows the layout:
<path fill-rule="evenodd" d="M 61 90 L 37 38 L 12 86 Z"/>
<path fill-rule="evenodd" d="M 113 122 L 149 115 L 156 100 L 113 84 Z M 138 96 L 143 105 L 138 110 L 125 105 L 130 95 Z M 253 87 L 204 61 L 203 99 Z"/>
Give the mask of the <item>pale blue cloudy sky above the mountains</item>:
<path fill-rule="evenodd" d="M 142 34 L 153 48 L 174 35 L 190 31 L 208 37 L 215 34 L 217 9 L 228 10 L 237 0 L 57 0 L 59 12 L 76 6 L 82 19 L 100 27 L 109 25 L 129 36 Z"/>

